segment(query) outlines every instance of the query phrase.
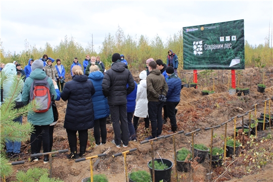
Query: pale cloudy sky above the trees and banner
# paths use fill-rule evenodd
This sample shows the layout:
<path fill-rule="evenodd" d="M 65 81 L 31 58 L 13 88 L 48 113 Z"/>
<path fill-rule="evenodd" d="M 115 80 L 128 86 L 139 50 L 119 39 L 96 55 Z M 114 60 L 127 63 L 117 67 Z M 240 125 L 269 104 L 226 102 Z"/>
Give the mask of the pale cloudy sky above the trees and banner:
<path fill-rule="evenodd" d="M 25 50 L 25 41 L 44 48 L 65 36 L 99 51 L 118 26 L 125 35 L 166 41 L 183 27 L 244 19 L 245 40 L 263 44 L 273 17 L 273 1 L 3 1 L 0 35 L 4 52 Z"/>

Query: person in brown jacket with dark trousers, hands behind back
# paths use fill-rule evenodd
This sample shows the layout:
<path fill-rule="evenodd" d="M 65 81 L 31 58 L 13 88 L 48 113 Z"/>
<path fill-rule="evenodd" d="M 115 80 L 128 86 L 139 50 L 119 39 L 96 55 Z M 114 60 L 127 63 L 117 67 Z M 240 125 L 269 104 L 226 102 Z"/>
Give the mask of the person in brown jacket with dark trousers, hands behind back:
<path fill-rule="evenodd" d="M 151 61 L 148 65 L 150 74 L 147 76 L 148 114 L 151 121 L 152 135 L 145 140 L 154 139 L 162 132 L 162 107 L 166 102 L 168 85 L 164 76 L 157 69 L 157 63 Z"/>

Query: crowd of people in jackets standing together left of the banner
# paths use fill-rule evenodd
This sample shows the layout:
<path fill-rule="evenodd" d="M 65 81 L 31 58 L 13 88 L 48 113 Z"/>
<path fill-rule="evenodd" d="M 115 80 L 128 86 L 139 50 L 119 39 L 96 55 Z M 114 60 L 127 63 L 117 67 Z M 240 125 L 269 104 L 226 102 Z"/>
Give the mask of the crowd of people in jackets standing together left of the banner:
<path fill-rule="evenodd" d="M 171 50 L 168 51 L 166 66 L 162 60 L 154 61 L 150 58 L 146 61 L 147 70 L 140 73 L 140 83 L 137 84 L 131 72 L 127 69 L 127 62 L 124 55 L 113 54 L 111 68 L 105 71 L 104 64 L 100 57 L 90 57 L 86 55 L 83 61 L 83 70 L 77 58 L 71 65 L 72 80 L 60 87 L 57 82 L 65 77 L 65 70 L 57 59 L 57 65 L 52 66 L 55 61 L 44 55 L 41 59 L 29 60 L 25 66 L 25 82 L 22 86 L 22 95 L 18 96 L 18 102 L 27 105 L 30 101 L 30 90 L 34 80 L 47 79 L 50 86 L 50 94 L 54 95 L 53 100 L 68 101 L 64 128 L 70 147 L 68 158 L 76 159 L 85 154 L 88 132 L 94 127 L 94 137 L 96 146 L 106 143 L 107 130 L 106 120 L 111 116 L 114 130 L 113 144 L 117 148 L 121 145 L 127 148 L 129 141 L 136 141 L 136 130 L 138 129 L 139 118 L 144 118 L 145 128 L 149 129 L 151 121 L 152 135 L 147 138 L 153 139 L 161 135 L 162 132 L 162 108 L 166 105 L 164 116 L 169 117 L 171 131 L 175 132 L 176 112 L 175 107 L 180 101 L 180 78 L 175 74 L 178 66 L 178 59 Z M 8 63 L 10 65 L 12 63 Z M 11 69 L 8 66 L 4 71 Z M 14 69 L 15 64 L 12 64 Z M 13 72 L 14 74 L 15 72 Z M 49 78 L 47 78 L 47 76 Z M 5 90 L 5 89 L 4 89 Z M 6 90 L 6 92 L 8 92 Z M 4 94 L 5 96 L 5 94 Z M 7 99 L 7 98 L 6 98 Z M 86 114 L 88 113 L 88 114 Z M 22 122 L 22 118 L 18 119 Z M 132 123 L 133 120 L 133 123 Z M 16 120 L 14 120 L 16 121 Z M 54 121 L 53 110 L 47 112 L 28 114 L 28 122 L 34 125 L 31 134 L 31 154 L 39 153 L 41 144 L 43 152 L 50 152 L 53 145 Z M 79 152 L 77 150 L 77 137 L 79 136 Z M 20 153 L 15 150 L 8 150 L 8 156 Z M 37 157 L 31 161 L 37 161 Z M 49 161 L 48 156 L 44 156 L 43 162 Z"/>

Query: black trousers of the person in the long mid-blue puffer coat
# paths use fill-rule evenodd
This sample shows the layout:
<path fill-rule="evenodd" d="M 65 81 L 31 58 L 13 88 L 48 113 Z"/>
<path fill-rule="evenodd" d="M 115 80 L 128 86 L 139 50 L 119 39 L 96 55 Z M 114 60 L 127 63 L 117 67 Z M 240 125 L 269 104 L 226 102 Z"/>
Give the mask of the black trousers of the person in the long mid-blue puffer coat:
<path fill-rule="evenodd" d="M 106 130 L 106 118 L 100 118 L 94 120 L 94 138 L 97 145 L 100 145 L 101 138 L 102 143 L 106 143 L 107 130 Z"/>

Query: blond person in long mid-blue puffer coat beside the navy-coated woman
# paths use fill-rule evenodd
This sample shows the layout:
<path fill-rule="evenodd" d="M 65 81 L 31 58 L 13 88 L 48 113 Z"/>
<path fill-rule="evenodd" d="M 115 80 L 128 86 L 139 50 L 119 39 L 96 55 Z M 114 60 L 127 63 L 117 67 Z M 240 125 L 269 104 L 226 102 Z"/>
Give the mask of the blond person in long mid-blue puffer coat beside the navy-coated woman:
<path fill-rule="evenodd" d="M 92 96 L 92 102 L 94 106 L 96 106 L 94 107 L 94 138 L 96 146 L 98 146 L 106 143 L 106 119 L 110 115 L 110 110 L 107 98 L 102 92 L 104 74 L 100 71 L 100 68 L 95 65 L 95 62 L 92 62 L 89 71 L 88 79 L 93 82 L 96 91 Z"/>

